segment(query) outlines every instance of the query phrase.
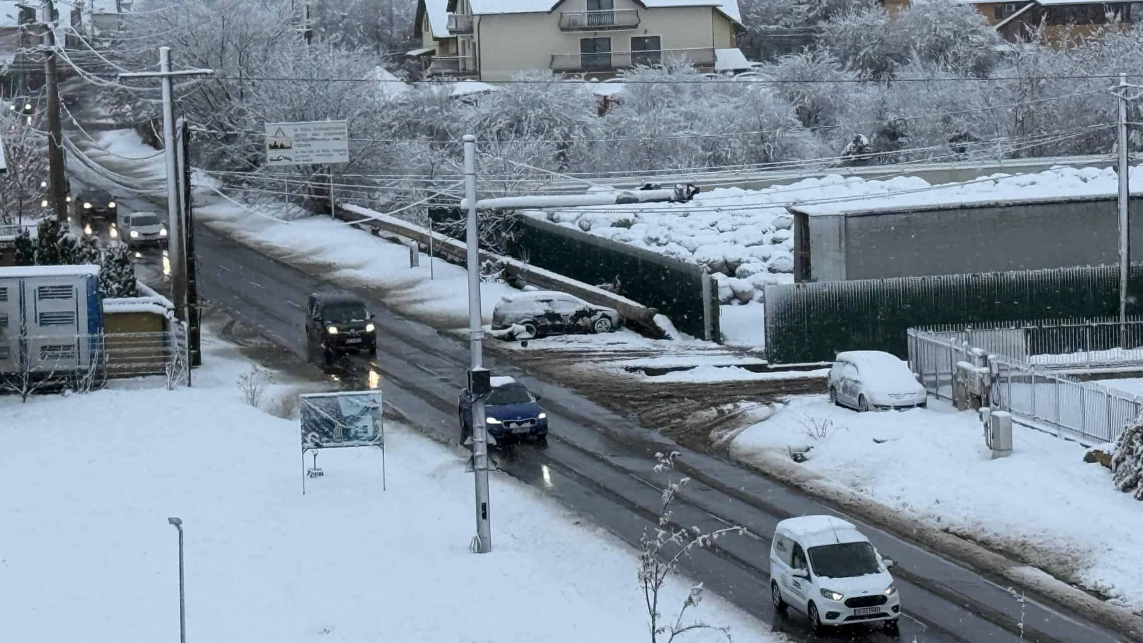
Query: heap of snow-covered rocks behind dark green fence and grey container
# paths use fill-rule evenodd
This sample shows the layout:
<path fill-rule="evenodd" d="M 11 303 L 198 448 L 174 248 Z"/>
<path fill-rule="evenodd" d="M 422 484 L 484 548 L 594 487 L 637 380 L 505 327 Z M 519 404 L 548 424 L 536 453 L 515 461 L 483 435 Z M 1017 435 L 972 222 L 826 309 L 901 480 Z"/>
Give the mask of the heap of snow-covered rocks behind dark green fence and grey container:
<path fill-rule="evenodd" d="M 892 172 L 886 168 L 886 172 Z M 1132 188 L 1143 190 L 1143 170 Z M 1110 168 L 1058 167 L 1038 174 L 996 174 L 967 183 L 930 185 L 916 176 L 886 181 L 829 175 L 764 190 L 717 188 L 688 204 L 628 204 L 529 212 L 613 241 L 647 248 L 705 267 L 719 280 L 722 303 L 761 301 L 766 284 L 793 281 L 793 232 L 789 205 L 873 208 L 1065 198 L 1117 190 Z"/>

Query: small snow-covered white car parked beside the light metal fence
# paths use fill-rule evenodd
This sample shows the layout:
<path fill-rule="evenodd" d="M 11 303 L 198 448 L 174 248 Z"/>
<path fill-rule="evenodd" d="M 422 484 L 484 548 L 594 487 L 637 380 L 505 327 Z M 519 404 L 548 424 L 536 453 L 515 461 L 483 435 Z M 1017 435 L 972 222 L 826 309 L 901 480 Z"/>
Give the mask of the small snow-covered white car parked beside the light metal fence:
<path fill-rule="evenodd" d="M 857 411 L 925 408 L 928 392 L 909 364 L 880 350 L 839 352 L 826 379 L 830 402 Z"/>

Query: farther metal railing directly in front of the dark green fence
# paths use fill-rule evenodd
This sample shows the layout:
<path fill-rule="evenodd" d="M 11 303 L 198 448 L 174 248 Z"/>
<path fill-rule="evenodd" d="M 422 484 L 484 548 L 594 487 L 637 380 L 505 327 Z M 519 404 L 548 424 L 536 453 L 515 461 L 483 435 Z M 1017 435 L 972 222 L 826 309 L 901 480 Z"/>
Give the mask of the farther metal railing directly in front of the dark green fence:
<path fill-rule="evenodd" d="M 1047 368 L 1143 364 L 1143 317 L 1129 316 L 1122 328 L 1127 331 L 1126 347 L 1120 346 L 1121 325 L 1116 317 L 1017 320 L 972 326 L 935 324 L 919 330 Z"/>

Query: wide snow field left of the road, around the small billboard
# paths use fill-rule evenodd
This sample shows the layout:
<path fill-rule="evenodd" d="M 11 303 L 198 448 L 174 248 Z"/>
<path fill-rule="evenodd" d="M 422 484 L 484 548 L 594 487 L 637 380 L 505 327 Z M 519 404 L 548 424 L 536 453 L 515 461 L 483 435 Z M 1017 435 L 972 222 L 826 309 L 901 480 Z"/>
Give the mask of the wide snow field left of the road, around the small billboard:
<path fill-rule="evenodd" d="M 0 397 L 0 486 L 18 490 L 0 497 L 6 640 L 169 638 L 168 516 L 185 523 L 191 640 L 647 638 L 633 549 L 493 474 L 494 550 L 469 553 L 463 459 L 398 423 L 387 491 L 379 451 L 350 448 L 319 457 L 326 475 L 303 497 L 296 420 L 240 402 L 248 365 L 211 339 L 206 349 L 193 389 Z M 672 579 L 672 613 L 688 588 Z M 735 641 L 778 641 L 713 595 L 693 616 Z"/>

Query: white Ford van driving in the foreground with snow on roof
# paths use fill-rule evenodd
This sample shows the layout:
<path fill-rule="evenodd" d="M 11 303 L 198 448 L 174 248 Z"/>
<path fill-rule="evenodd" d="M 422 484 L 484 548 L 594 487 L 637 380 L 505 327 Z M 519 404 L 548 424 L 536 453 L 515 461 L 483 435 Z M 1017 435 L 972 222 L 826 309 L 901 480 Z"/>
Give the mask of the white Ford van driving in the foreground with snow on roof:
<path fill-rule="evenodd" d="M 770 547 L 774 609 L 793 608 L 822 626 L 882 621 L 897 632 L 901 597 L 888 569 L 857 527 L 833 516 L 802 516 L 778 523 Z"/>

